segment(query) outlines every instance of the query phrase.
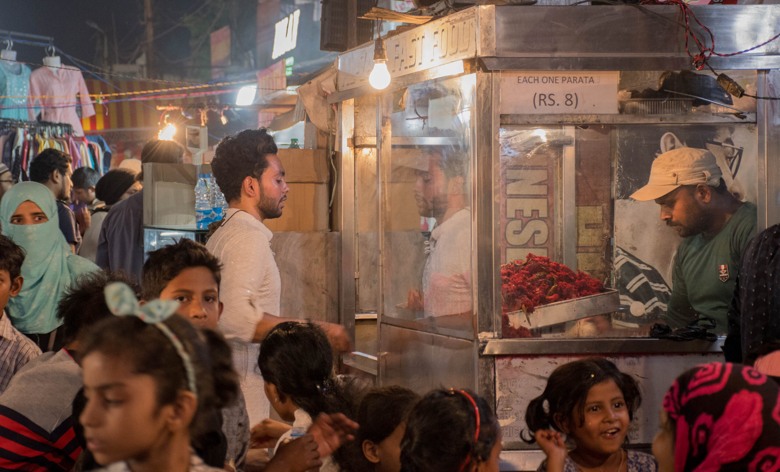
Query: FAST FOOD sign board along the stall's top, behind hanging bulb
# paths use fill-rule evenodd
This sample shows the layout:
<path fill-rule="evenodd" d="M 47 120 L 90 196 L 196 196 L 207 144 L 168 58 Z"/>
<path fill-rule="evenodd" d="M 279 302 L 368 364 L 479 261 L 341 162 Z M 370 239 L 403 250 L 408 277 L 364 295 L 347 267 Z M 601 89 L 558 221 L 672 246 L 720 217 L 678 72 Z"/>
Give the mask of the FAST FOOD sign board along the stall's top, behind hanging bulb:
<path fill-rule="evenodd" d="M 391 77 L 404 76 L 477 55 L 477 12 L 467 9 L 385 40 Z M 374 43 L 339 55 L 339 90 L 368 84 Z"/>

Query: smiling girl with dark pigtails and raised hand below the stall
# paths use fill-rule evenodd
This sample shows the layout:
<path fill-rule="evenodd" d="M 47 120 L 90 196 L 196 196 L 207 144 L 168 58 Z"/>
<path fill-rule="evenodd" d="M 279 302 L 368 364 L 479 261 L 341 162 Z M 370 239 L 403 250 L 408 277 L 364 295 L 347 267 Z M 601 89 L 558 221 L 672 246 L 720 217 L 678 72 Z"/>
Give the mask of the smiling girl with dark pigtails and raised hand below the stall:
<path fill-rule="evenodd" d="M 622 449 L 641 401 L 633 378 L 606 359 L 589 357 L 555 369 L 526 410 L 534 433 L 526 441 L 537 442 L 547 455 L 537 472 L 656 472 L 653 456 Z M 561 433 L 573 440 L 573 450 Z"/>

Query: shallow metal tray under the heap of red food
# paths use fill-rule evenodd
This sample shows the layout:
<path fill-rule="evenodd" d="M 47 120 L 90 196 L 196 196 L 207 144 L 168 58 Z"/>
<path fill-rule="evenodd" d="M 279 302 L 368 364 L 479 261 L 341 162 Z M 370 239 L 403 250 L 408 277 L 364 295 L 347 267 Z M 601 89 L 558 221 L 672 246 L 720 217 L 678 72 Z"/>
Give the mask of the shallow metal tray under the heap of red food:
<path fill-rule="evenodd" d="M 576 321 L 590 318 L 599 314 L 618 311 L 620 296 L 615 289 L 605 289 L 597 295 L 582 296 L 572 300 L 542 305 L 534 310 L 534 313 L 526 313 L 523 310 L 507 313 L 509 325 L 514 328 L 542 328 L 544 326 L 558 325 L 566 321 Z"/>

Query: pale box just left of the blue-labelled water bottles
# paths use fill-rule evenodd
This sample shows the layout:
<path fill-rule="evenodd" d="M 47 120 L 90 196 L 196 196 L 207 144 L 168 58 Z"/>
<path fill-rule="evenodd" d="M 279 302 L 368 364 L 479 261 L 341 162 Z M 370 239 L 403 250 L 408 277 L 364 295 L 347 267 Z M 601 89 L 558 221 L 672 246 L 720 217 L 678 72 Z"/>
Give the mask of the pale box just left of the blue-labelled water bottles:
<path fill-rule="evenodd" d="M 144 225 L 194 225 L 197 167 L 144 164 Z"/>

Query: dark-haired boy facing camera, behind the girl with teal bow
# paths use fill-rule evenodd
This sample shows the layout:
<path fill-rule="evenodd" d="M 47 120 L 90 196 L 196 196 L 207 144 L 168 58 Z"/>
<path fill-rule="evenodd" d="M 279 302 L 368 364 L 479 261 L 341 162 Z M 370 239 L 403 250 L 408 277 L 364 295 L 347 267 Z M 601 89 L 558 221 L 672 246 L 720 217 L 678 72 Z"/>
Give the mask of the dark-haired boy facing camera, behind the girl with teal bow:
<path fill-rule="evenodd" d="M 217 330 L 222 315 L 219 301 L 221 264 L 203 244 L 182 239 L 178 243 L 151 251 L 144 263 L 141 281 L 144 286 L 144 300 L 178 300 L 179 316 L 187 318 L 193 325 Z M 226 442 L 225 465 L 231 465 L 237 472 L 244 468 L 249 451 L 249 415 L 242 393 L 233 406 L 222 410 L 222 417 L 216 418 L 209 435 L 200 442 Z M 221 430 L 221 431 L 220 431 Z M 224 439 L 219 433 L 224 435 Z M 209 448 L 209 444 L 193 441 L 197 452 Z M 205 457 L 204 457 L 205 460 Z M 215 466 L 215 464 L 211 464 Z"/>

